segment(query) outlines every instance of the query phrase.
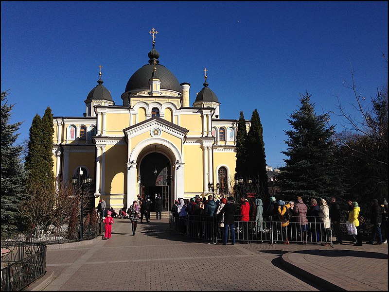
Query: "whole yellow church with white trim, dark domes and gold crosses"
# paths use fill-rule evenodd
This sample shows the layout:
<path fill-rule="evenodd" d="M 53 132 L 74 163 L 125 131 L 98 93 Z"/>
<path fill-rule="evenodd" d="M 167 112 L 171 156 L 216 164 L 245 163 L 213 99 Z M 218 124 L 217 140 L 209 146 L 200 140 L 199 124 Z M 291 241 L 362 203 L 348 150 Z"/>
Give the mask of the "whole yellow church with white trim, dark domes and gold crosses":
<path fill-rule="evenodd" d="M 90 176 L 95 206 L 129 207 L 137 196 L 160 193 L 163 210 L 179 198 L 230 194 L 235 174 L 237 120 L 220 118 L 220 103 L 204 87 L 190 106 L 189 83 L 159 64 L 159 53 L 128 80 L 115 105 L 101 79 L 85 100 L 83 117 L 54 115 L 53 161 L 57 182 Z M 247 122 L 247 126 L 249 126 Z M 216 186 L 219 186 L 217 189 Z"/>

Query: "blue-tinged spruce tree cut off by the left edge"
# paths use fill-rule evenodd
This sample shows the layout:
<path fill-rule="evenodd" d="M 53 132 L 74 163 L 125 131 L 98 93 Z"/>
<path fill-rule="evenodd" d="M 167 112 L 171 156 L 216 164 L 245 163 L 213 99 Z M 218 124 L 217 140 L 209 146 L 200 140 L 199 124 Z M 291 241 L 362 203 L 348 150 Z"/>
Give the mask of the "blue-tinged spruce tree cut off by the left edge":
<path fill-rule="evenodd" d="M 9 123 L 15 104 L 7 104 L 1 92 L 1 235 L 20 225 L 20 205 L 25 198 L 26 173 L 21 162 L 22 146 L 14 146 L 21 122 Z"/>

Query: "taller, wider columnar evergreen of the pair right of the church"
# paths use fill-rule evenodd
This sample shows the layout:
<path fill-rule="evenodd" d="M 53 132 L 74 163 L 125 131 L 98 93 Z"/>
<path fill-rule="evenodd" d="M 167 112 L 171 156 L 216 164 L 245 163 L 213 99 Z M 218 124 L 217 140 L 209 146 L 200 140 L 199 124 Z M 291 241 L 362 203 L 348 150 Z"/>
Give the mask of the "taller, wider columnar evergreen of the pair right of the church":
<path fill-rule="evenodd" d="M 246 139 L 247 149 L 247 175 L 251 177 L 256 189 L 261 193 L 261 198 L 268 193 L 267 191 L 267 171 L 265 143 L 263 137 L 263 128 L 257 109 L 252 112 L 250 130 Z"/>

